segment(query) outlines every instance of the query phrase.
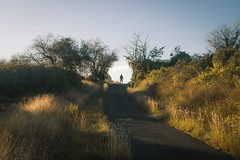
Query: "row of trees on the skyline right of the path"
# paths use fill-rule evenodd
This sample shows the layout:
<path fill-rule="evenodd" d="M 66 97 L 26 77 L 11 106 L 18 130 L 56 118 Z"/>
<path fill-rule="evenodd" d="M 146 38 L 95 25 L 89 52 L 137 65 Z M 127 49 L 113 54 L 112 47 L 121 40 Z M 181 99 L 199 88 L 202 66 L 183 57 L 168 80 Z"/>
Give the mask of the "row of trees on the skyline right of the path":
<path fill-rule="evenodd" d="M 134 34 L 130 43 L 125 47 L 125 56 L 133 71 L 132 83 L 137 84 L 152 70 L 161 67 L 171 67 L 179 62 L 194 63 L 200 68 L 221 68 L 224 66 L 238 67 L 240 65 L 240 22 L 233 26 L 223 25 L 210 32 L 207 42 L 213 48 L 207 54 L 190 55 L 182 51 L 180 46 L 171 52 L 169 60 L 161 60 L 165 47 L 149 49 L 148 36 L 142 38 Z"/>

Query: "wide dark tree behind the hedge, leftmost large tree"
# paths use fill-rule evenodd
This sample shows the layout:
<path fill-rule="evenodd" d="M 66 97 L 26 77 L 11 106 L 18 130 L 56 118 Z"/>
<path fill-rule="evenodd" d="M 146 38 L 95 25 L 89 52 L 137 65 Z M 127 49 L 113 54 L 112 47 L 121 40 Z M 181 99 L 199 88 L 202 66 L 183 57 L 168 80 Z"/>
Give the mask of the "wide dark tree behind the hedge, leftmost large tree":
<path fill-rule="evenodd" d="M 74 39 L 47 34 L 37 37 L 24 57 L 39 65 L 79 71 L 86 58 L 82 53 Z"/>

